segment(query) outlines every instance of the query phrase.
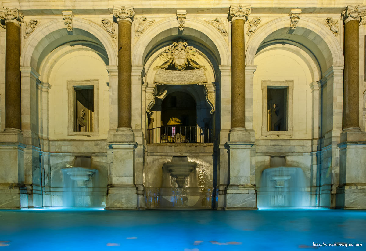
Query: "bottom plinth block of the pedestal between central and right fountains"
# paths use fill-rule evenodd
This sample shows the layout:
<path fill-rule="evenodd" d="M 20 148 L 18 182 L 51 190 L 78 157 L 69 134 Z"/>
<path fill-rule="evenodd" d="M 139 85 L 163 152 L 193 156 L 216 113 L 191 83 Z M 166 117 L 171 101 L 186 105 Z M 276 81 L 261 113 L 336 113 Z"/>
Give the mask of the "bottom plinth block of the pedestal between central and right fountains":
<path fill-rule="evenodd" d="M 258 210 L 255 186 L 231 184 L 225 188 L 224 210 Z"/>

